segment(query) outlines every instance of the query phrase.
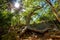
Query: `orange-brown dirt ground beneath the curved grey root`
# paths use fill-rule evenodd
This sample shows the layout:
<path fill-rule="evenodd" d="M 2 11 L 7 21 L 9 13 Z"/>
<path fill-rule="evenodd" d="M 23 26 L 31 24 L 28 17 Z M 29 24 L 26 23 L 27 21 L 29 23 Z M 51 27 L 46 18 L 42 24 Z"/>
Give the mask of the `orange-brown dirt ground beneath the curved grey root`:
<path fill-rule="evenodd" d="M 31 31 L 26 31 L 20 40 L 60 40 L 60 37 L 51 37 L 48 33 L 35 33 Z"/>

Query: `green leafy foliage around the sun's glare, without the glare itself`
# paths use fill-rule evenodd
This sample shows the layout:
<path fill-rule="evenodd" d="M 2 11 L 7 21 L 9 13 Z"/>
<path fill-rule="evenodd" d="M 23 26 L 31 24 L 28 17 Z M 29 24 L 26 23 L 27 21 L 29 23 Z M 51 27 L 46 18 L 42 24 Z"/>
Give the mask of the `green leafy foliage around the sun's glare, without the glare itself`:
<path fill-rule="evenodd" d="M 50 0 L 50 2 L 56 9 L 57 13 L 60 13 L 60 1 Z M 56 20 L 55 13 L 52 11 L 51 5 L 49 5 L 46 0 L 22 0 L 23 8 L 21 10 L 23 11 L 21 12 L 20 9 L 15 8 L 14 13 L 11 13 L 11 10 L 8 10 L 8 3 L 9 0 L 0 0 L 0 27 L 3 27 L 4 31 L 6 29 L 9 30 L 11 26 L 17 27 L 16 25 L 38 24 L 41 23 L 42 20 Z M 12 8 L 13 7 L 10 9 Z M 15 32 L 16 31 L 14 31 L 14 33 Z M 11 34 L 14 33 L 11 32 Z M 11 34 L 8 33 L 6 36 L 10 36 Z"/>

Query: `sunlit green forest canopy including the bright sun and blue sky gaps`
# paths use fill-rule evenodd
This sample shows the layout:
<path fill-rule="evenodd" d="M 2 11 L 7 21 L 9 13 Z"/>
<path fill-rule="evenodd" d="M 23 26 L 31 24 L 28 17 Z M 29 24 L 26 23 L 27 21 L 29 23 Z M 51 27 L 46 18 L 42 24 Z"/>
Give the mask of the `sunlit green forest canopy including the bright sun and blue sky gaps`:
<path fill-rule="evenodd" d="M 16 25 L 18 23 L 26 25 L 26 20 L 30 20 L 30 24 L 40 23 L 42 20 L 55 20 L 56 15 L 58 15 L 56 12 L 60 13 L 59 0 L 48 1 L 52 6 L 47 0 L 0 0 L 0 23 L 5 23 L 8 20 L 9 23 L 7 24 Z M 15 7 L 19 5 L 19 8 Z M 27 17 L 30 18 L 28 19 Z"/>

